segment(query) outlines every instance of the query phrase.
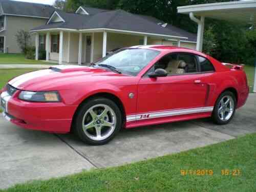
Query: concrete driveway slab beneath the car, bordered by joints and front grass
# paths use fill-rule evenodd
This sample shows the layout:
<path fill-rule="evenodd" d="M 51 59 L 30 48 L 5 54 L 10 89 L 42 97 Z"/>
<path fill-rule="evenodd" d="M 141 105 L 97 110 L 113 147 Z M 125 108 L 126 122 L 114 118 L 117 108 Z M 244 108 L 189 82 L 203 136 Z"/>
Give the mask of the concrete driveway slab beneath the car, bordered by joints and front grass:
<path fill-rule="evenodd" d="M 121 130 L 101 146 L 87 145 L 73 134 L 58 136 L 96 167 L 122 165 L 233 138 L 187 121 Z"/>

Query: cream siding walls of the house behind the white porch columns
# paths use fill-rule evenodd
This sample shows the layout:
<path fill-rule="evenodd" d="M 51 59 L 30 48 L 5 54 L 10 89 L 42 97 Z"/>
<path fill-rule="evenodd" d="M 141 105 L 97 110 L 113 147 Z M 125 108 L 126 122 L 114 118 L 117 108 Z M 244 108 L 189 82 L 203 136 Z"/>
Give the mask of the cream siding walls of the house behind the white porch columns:
<path fill-rule="evenodd" d="M 58 34 L 58 33 L 51 33 Z M 68 32 L 63 33 L 63 58 L 62 61 L 68 62 Z M 84 33 L 82 35 L 82 62 L 86 61 L 86 36 L 91 36 L 92 33 Z M 50 35 L 51 36 L 51 35 Z M 106 42 L 106 51 L 111 51 L 116 48 L 124 48 L 130 46 L 141 45 L 143 42 L 143 36 L 139 35 L 128 35 L 120 33 L 108 33 L 107 42 Z M 177 44 L 177 41 L 163 40 L 157 37 L 148 37 L 148 45 L 167 45 L 174 46 Z M 70 33 L 70 61 L 71 63 L 78 62 L 78 47 L 79 47 L 79 33 Z M 103 33 L 97 32 L 94 33 L 94 54 L 93 62 L 96 62 L 98 59 L 102 58 L 102 47 L 103 47 Z M 189 42 L 181 42 L 181 47 L 196 49 L 196 44 Z M 50 60 L 58 61 L 58 53 L 50 53 Z"/>

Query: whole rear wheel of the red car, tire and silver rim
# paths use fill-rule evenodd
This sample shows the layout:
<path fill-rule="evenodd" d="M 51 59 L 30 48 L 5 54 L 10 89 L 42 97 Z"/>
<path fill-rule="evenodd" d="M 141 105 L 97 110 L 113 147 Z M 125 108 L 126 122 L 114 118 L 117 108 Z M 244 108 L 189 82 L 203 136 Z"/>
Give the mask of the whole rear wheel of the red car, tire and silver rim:
<path fill-rule="evenodd" d="M 212 119 L 217 124 L 227 124 L 231 121 L 236 112 L 236 97 L 230 91 L 223 92 L 218 98 Z"/>

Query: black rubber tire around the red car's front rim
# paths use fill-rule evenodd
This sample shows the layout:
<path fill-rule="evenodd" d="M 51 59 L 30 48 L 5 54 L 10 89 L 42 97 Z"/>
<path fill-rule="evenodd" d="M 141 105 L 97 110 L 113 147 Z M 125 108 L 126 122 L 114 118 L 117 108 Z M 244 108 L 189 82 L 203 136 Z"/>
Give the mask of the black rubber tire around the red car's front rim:
<path fill-rule="evenodd" d="M 116 115 L 116 126 L 114 128 L 114 131 L 111 133 L 110 136 L 108 136 L 107 138 L 103 139 L 103 140 L 93 140 L 92 138 L 90 138 L 85 131 L 83 131 L 83 118 L 84 115 L 88 112 L 89 109 L 92 109 L 93 106 L 95 105 L 107 105 L 109 106 L 113 112 Z M 76 113 L 76 116 L 74 117 L 74 126 L 73 126 L 73 130 L 74 133 L 85 143 L 90 144 L 90 145 L 103 145 L 108 143 L 109 141 L 111 141 L 116 134 L 120 131 L 121 127 L 122 127 L 122 114 L 120 109 L 118 108 L 118 106 L 115 104 L 115 102 L 113 102 L 110 99 L 107 98 L 103 98 L 103 97 L 97 97 L 97 98 L 93 98 L 90 99 L 84 103 L 81 104 L 81 106 L 78 109 L 78 112 Z M 93 120 L 92 120 L 93 121 Z M 93 127 L 92 129 L 95 129 L 95 134 L 96 134 L 96 127 Z"/>

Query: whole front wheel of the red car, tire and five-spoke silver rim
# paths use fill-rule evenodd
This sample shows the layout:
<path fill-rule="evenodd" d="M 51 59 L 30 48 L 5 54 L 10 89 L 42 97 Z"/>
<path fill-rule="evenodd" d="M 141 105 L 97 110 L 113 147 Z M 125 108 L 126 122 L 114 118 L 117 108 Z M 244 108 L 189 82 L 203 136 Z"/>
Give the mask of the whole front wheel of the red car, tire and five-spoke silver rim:
<path fill-rule="evenodd" d="M 108 143 L 121 129 L 122 118 L 118 106 L 110 99 L 95 98 L 80 107 L 74 131 L 91 145 Z"/>

